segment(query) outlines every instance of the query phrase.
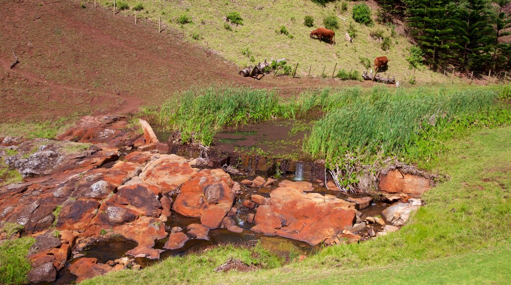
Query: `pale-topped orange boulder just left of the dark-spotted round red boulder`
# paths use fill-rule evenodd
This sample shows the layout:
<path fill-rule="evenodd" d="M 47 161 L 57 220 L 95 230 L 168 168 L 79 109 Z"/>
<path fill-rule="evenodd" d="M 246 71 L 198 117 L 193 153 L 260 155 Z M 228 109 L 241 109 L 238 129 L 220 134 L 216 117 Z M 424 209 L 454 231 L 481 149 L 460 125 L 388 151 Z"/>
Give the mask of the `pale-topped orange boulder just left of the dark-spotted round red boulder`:
<path fill-rule="evenodd" d="M 158 186 L 161 193 L 168 194 L 187 182 L 195 173 L 184 157 L 162 154 L 158 159 L 147 163 L 141 179 Z"/>

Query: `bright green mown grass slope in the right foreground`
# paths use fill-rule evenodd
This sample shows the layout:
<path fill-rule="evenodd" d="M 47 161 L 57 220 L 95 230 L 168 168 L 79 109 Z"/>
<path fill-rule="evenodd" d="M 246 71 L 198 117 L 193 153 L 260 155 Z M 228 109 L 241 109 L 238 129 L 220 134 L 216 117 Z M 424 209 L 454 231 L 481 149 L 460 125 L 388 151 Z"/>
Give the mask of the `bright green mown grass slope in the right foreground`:
<path fill-rule="evenodd" d="M 505 283 L 511 277 L 511 127 L 448 141 L 435 171 L 451 179 L 423 196 L 426 206 L 400 231 L 361 244 L 332 246 L 304 262 L 255 272 L 215 273 L 230 257 L 267 256 L 220 247 L 171 257 L 142 271 L 83 284 L 164 283 Z M 264 257 L 264 258 L 263 258 Z M 274 266 L 274 264 L 273 264 Z"/>

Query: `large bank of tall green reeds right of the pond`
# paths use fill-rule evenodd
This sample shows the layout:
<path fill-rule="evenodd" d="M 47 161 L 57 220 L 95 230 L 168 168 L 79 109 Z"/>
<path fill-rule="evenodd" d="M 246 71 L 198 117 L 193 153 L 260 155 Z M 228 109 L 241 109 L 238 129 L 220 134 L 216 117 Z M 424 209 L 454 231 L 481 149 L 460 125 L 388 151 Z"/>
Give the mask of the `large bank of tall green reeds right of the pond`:
<path fill-rule="evenodd" d="M 327 112 L 304 140 L 304 151 L 336 163 L 346 154 L 429 160 L 441 150 L 438 137 L 471 125 L 511 122 L 496 104 L 497 88 L 350 88 L 309 93 L 301 111 Z"/>

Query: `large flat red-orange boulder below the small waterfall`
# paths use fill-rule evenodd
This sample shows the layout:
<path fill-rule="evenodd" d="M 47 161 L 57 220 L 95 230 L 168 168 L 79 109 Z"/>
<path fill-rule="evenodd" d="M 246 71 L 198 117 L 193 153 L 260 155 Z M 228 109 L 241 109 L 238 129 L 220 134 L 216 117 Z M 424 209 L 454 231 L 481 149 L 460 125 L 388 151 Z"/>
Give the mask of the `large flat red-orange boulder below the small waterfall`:
<path fill-rule="evenodd" d="M 307 184 L 286 181 L 270 193 L 267 205 L 255 214 L 254 232 L 280 235 L 310 245 L 335 238 L 353 225 L 355 204 L 332 195 L 304 193 Z"/>

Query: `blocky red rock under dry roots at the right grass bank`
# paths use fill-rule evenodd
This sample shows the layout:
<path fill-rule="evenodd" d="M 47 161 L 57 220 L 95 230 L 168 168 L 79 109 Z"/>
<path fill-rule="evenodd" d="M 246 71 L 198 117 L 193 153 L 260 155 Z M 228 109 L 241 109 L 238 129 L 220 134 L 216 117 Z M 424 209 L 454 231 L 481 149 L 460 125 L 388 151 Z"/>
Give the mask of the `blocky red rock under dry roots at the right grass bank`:
<path fill-rule="evenodd" d="M 378 188 L 386 193 L 406 193 L 420 197 L 431 188 L 431 181 L 418 175 L 402 174 L 398 170 L 389 171 L 379 177 Z"/>

